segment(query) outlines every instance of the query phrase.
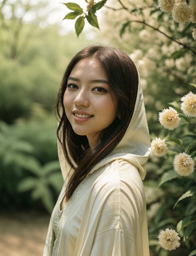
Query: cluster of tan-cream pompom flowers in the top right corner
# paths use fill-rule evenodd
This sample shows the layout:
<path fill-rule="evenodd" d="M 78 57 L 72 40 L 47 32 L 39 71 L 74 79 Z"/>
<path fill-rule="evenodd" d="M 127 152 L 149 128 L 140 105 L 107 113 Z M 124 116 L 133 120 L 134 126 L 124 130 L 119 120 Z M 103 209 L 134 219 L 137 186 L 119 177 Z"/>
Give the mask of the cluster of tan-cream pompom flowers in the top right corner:
<path fill-rule="evenodd" d="M 158 0 L 161 11 L 172 12 L 172 18 L 179 24 L 191 21 L 196 23 L 196 1 L 190 0 Z M 196 40 L 195 28 L 193 29 L 193 39 Z"/>

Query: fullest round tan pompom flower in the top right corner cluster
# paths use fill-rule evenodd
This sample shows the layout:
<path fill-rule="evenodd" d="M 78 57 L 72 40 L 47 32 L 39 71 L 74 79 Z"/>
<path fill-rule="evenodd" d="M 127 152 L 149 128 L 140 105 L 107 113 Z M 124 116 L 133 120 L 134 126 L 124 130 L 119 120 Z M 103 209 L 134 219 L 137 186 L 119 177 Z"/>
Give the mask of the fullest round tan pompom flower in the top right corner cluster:
<path fill-rule="evenodd" d="M 189 21 L 191 11 L 186 3 L 175 4 L 172 10 L 172 17 L 178 23 Z"/>

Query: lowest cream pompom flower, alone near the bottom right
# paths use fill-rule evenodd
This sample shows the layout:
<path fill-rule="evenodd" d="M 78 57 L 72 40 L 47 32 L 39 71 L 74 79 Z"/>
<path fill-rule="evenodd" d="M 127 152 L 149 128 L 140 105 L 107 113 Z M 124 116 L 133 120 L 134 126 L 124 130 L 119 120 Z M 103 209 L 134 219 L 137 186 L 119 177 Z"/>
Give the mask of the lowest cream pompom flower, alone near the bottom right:
<path fill-rule="evenodd" d="M 161 229 L 157 237 L 159 238 L 159 245 L 167 251 L 175 250 L 180 246 L 179 235 L 174 229 Z"/>

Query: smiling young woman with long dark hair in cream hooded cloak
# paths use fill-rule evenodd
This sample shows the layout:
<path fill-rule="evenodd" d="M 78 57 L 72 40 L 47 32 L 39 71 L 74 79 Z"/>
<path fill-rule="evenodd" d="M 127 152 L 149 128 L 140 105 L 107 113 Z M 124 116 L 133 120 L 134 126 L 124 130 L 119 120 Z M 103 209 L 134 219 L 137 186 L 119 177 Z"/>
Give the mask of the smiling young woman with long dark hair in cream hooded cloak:
<path fill-rule="evenodd" d="M 149 256 L 142 180 L 151 152 L 139 73 L 122 51 L 88 46 L 57 97 L 64 186 L 43 256 Z"/>

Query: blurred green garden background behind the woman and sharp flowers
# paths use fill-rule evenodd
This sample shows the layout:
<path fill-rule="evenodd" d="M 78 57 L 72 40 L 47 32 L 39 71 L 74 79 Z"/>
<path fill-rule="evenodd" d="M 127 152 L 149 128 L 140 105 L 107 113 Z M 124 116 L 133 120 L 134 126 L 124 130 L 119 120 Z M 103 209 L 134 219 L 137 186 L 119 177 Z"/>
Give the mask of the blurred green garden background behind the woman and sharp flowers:
<path fill-rule="evenodd" d="M 70 2 L 87 5 L 85 0 Z M 179 98 L 195 91 L 189 84 L 196 83 L 193 23 L 175 22 L 170 13 L 160 11 L 157 1 L 121 2 L 136 11 L 126 12 L 119 1 L 108 0 L 97 12 L 100 30 L 86 23 L 77 37 L 75 21 L 63 20 L 70 10 L 57 0 L 0 0 L 0 256 L 43 253 L 51 210 L 63 184 L 55 104 L 75 53 L 101 43 L 131 56 L 140 72 L 152 138 L 168 134 L 158 122 L 158 112 L 171 102 L 178 108 Z M 130 19 L 145 19 L 152 28 L 140 22 L 125 25 Z M 171 136 L 189 144 L 190 138 L 183 135 L 194 133 L 195 124 L 186 124 L 183 119 Z M 160 228 L 175 229 L 196 211 L 194 196 L 173 210 L 189 179 L 176 176 L 158 187 L 162 174 L 172 169 L 172 157 L 152 155 L 144 180 L 151 256 L 188 256 L 195 249 L 195 233 L 172 252 L 158 244 Z"/>

